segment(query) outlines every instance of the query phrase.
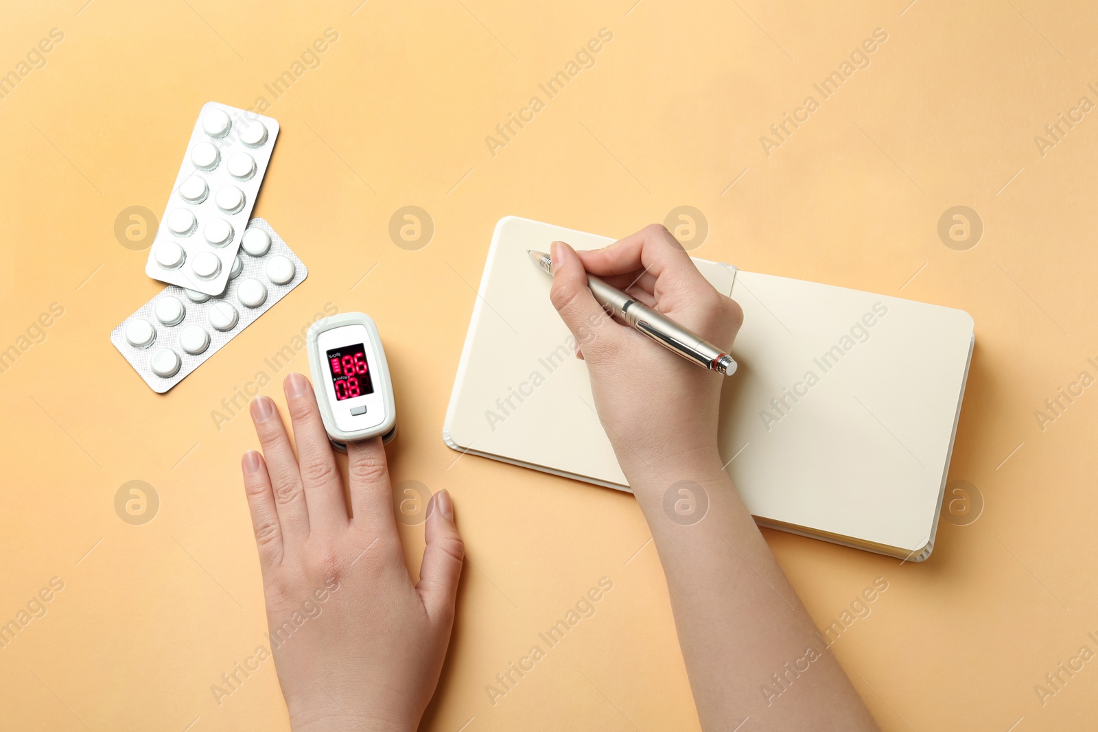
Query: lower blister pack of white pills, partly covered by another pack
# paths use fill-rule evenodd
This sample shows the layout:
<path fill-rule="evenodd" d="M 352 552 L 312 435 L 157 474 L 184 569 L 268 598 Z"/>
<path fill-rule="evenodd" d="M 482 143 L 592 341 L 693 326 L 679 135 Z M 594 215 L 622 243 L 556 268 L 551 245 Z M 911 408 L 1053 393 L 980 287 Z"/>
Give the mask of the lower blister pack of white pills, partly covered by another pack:
<path fill-rule="evenodd" d="M 243 234 L 224 292 L 168 285 L 111 331 L 111 342 L 154 392 L 186 379 L 309 274 L 262 218 Z"/>

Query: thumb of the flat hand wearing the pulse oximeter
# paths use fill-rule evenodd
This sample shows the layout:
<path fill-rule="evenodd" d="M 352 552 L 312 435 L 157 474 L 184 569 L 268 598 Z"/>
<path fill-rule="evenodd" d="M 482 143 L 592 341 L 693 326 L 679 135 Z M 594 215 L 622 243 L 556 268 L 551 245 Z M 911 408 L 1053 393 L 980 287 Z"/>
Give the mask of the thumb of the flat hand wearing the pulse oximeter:
<path fill-rule="evenodd" d="M 453 622 L 466 550 L 453 522 L 453 500 L 445 488 L 433 495 L 427 504 L 424 538 L 427 548 L 423 551 L 416 589 L 430 619 L 449 627 Z"/>

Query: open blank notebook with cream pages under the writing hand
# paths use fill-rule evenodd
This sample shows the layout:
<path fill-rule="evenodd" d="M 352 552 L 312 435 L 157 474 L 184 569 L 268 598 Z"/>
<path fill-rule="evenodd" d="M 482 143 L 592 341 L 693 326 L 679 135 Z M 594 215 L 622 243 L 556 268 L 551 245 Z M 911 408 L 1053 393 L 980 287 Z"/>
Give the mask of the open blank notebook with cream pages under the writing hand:
<path fill-rule="evenodd" d="M 461 451 L 628 491 L 583 361 L 527 249 L 613 239 L 495 227 L 442 437 Z M 921 561 L 933 549 L 974 341 L 964 311 L 695 260 L 743 308 L 720 448 L 761 526 Z M 658 348 L 653 344 L 653 348 Z"/>

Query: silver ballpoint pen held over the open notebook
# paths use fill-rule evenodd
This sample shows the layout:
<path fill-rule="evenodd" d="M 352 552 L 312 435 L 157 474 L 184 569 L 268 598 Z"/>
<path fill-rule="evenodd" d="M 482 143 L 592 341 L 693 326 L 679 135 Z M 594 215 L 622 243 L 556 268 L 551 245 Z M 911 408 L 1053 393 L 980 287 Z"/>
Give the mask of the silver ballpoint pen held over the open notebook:
<path fill-rule="evenodd" d="M 552 259 L 549 255 L 533 249 L 526 251 L 538 267 L 550 275 L 552 274 Z M 736 360 L 731 356 L 662 313 L 653 311 L 645 303 L 630 297 L 594 274 L 587 274 L 587 286 L 604 311 L 612 316 L 621 318 L 660 346 L 710 371 L 722 373 L 726 376 L 736 373 Z"/>

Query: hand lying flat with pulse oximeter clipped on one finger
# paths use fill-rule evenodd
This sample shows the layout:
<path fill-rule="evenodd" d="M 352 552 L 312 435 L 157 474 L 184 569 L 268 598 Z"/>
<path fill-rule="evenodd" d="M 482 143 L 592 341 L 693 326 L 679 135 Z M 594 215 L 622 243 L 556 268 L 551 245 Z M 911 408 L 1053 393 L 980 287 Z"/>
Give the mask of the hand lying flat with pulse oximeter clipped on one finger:
<path fill-rule="evenodd" d="M 291 727 L 415 730 L 446 657 L 464 558 L 450 495 L 427 505 L 413 585 L 381 438 L 348 446 L 350 518 L 309 380 L 292 373 L 283 386 L 298 454 L 260 396 L 251 417 L 264 455 L 249 450 L 242 466 Z"/>

